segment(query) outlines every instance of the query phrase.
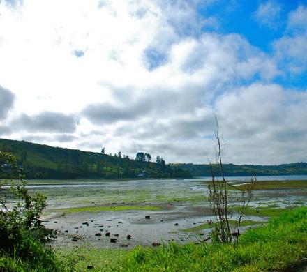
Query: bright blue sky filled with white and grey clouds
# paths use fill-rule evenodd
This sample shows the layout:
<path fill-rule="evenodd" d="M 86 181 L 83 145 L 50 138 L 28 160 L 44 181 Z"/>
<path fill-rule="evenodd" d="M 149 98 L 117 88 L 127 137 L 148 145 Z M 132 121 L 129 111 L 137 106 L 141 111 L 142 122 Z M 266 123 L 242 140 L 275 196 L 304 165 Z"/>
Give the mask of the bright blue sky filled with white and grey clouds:
<path fill-rule="evenodd" d="M 0 0 L 0 137 L 306 162 L 306 52 L 307 1 Z"/>

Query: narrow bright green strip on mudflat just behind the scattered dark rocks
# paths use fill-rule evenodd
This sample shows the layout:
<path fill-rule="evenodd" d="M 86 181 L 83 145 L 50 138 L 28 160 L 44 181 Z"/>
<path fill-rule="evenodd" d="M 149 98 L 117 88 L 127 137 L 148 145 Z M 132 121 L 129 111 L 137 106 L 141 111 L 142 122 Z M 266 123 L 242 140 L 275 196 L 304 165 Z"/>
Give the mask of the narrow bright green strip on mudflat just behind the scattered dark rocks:
<path fill-rule="evenodd" d="M 68 209 L 58 209 L 63 213 L 80 213 L 82 211 L 98 212 L 98 211 L 159 211 L 159 206 L 85 206 Z"/>

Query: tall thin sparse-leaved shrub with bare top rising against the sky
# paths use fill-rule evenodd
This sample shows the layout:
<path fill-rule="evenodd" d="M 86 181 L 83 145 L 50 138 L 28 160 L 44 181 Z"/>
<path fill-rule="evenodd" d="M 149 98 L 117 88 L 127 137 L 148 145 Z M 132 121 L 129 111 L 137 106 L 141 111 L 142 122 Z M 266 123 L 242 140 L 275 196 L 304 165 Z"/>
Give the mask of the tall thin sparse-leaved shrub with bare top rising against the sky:
<path fill-rule="evenodd" d="M 224 175 L 223 161 L 222 161 L 222 146 L 220 136 L 220 129 L 218 126 L 218 118 L 214 114 L 216 121 L 216 130 L 214 131 L 214 137 L 216 139 L 216 163 L 212 164 L 209 161 L 209 168 L 212 176 L 212 183 L 209 186 L 209 200 L 211 211 L 216 216 L 216 224 L 212 231 L 212 236 L 216 241 L 221 243 L 230 243 L 234 239 L 236 243 L 239 241 L 241 220 L 244 217 L 246 209 L 250 203 L 250 199 L 253 197 L 253 189 L 255 188 L 255 178 L 250 179 L 250 183 L 247 183 L 244 189 L 232 186 L 227 183 Z M 217 181 L 215 178 L 215 172 L 220 172 L 222 181 Z M 237 222 L 234 227 L 230 226 L 230 211 L 229 211 L 229 196 L 228 186 L 232 186 L 239 191 L 239 209 Z"/>

